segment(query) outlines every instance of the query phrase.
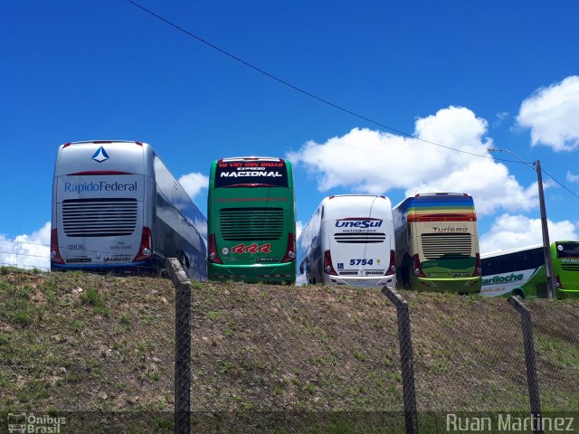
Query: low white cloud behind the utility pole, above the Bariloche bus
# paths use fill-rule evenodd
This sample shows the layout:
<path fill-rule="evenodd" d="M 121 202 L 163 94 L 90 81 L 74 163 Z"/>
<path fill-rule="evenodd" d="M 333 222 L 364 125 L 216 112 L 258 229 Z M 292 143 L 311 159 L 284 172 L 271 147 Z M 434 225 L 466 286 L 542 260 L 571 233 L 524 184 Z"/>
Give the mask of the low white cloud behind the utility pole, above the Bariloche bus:
<path fill-rule="evenodd" d="M 551 222 L 547 219 L 550 241 L 578 240 L 578 229 L 572 222 Z M 541 219 L 529 219 L 524 215 L 503 214 L 490 230 L 480 236 L 480 252 L 515 249 L 543 242 Z"/>

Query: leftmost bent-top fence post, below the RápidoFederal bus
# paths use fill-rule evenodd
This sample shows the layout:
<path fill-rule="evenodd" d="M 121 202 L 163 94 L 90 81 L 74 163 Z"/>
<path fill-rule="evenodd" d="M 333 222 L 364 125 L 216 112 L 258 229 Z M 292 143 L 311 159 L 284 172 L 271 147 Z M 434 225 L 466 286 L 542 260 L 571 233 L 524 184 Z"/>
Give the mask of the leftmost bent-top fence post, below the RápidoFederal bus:
<path fill-rule="evenodd" d="M 166 260 L 175 295 L 175 433 L 191 431 L 191 283 L 176 258 Z"/>

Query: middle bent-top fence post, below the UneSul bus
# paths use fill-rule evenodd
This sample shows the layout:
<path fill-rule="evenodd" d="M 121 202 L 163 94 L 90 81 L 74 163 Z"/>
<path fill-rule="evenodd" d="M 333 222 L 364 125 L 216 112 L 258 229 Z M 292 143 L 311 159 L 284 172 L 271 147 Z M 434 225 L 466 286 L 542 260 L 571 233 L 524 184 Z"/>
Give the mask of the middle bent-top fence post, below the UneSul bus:
<path fill-rule="evenodd" d="M 396 307 L 398 316 L 398 343 L 400 346 L 400 363 L 402 366 L 402 388 L 404 400 L 404 423 L 406 434 L 418 433 L 416 413 L 416 392 L 414 390 L 413 341 L 410 335 L 410 312 L 408 303 L 394 289 L 382 288 L 384 296 Z"/>

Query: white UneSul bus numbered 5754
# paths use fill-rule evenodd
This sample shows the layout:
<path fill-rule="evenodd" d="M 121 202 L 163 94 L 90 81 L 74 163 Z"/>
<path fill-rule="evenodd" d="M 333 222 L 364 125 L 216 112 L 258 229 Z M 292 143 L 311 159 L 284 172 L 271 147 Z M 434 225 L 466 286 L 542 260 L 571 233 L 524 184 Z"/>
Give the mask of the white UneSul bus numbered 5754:
<path fill-rule="evenodd" d="M 297 281 L 394 288 L 394 251 L 392 205 L 387 197 L 329 196 L 299 235 Z"/>

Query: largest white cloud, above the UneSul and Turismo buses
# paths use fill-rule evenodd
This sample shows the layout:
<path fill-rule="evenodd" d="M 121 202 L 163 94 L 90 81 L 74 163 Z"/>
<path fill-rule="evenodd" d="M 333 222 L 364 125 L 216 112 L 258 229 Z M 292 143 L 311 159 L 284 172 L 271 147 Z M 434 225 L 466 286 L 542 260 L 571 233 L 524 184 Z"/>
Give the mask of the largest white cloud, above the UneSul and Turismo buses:
<path fill-rule="evenodd" d="M 450 107 L 419 118 L 414 136 L 467 153 L 489 156 L 490 139 L 483 138 L 487 121 L 470 109 Z M 336 187 L 357 193 L 383 194 L 402 188 L 414 193 L 470 193 L 480 215 L 498 208 L 529 210 L 537 204 L 536 184 L 524 188 L 506 165 L 370 129 L 355 128 L 326 143 L 309 141 L 287 158 L 304 165 L 318 180 L 318 190 Z"/>

